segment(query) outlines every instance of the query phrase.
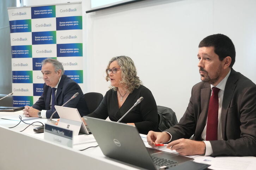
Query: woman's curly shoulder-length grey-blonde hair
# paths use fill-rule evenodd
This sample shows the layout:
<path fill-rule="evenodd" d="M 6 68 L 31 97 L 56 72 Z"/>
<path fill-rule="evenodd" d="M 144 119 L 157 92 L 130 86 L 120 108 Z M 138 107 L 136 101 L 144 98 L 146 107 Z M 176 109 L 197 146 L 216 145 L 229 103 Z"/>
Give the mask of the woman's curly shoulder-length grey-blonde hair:
<path fill-rule="evenodd" d="M 127 56 L 118 56 L 113 57 L 108 64 L 107 69 L 109 69 L 109 65 L 113 62 L 117 61 L 118 65 L 121 67 L 121 77 L 120 85 L 126 87 L 127 92 L 132 93 L 134 89 L 138 89 L 142 84 L 140 78 L 137 76 L 136 67 L 134 65 L 133 60 Z M 109 81 L 110 77 L 108 72 L 106 71 L 106 81 Z M 114 91 L 118 90 L 118 87 L 110 86 L 110 89 Z"/>

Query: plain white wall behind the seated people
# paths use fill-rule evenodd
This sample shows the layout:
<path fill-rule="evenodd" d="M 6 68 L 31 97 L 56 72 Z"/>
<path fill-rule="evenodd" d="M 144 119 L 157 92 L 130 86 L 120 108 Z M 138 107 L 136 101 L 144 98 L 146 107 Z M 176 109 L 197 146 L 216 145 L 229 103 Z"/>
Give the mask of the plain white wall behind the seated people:
<path fill-rule="evenodd" d="M 27 5 L 42 5 L 38 4 L 42 1 L 29 2 Z M 197 46 L 215 33 L 232 39 L 237 52 L 233 68 L 256 83 L 254 0 L 147 0 L 89 14 L 85 14 L 90 9 L 89 0 L 82 4 L 87 22 L 84 52 L 88 92 L 105 94 L 108 61 L 127 55 L 134 60 L 157 105 L 171 107 L 179 120 L 187 108 L 191 87 L 201 81 Z"/>

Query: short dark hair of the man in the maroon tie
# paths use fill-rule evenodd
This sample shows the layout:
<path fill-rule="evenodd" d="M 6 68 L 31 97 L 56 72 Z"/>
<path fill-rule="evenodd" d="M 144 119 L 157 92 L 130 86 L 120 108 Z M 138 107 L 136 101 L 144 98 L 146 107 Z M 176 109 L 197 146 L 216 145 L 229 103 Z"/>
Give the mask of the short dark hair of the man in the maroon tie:
<path fill-rule="evenodd" d="M 204 38 L 200 43 L 200 47 L 214 47 L 214 52 L 219 56 L 219 60 L 222 61 L 227 56 L 231 57 L 230 68 L 234 65 L 236 60 L 236 50 L 231 39 L 223 34 L 213 34 Z"/>

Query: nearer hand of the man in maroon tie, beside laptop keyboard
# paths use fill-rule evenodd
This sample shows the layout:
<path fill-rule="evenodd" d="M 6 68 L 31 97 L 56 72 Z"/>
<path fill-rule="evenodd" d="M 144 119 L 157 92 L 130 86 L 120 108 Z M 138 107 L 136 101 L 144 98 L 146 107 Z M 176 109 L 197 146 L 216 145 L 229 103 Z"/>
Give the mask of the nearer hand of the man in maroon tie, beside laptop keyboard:
<path fill-rule="evenodd" d="M 205 153 L 204 142 L 184 138 L 170 142 L 167 148 L 176 150 L 181 155 L 202 155 Z"/>

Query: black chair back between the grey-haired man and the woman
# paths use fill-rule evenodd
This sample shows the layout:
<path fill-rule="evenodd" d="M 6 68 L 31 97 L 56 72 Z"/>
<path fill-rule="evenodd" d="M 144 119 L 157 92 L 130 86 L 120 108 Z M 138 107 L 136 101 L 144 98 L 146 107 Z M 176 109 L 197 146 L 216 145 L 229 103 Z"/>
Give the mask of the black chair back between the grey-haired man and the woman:
<path fill-rule="evenodd" d="M 85 93 L 84 98 L 90 113 L 92 113 L 99 106 L 100 102 L 103 99 L 103 95 L 101 93 L 90 92 Z"/>

